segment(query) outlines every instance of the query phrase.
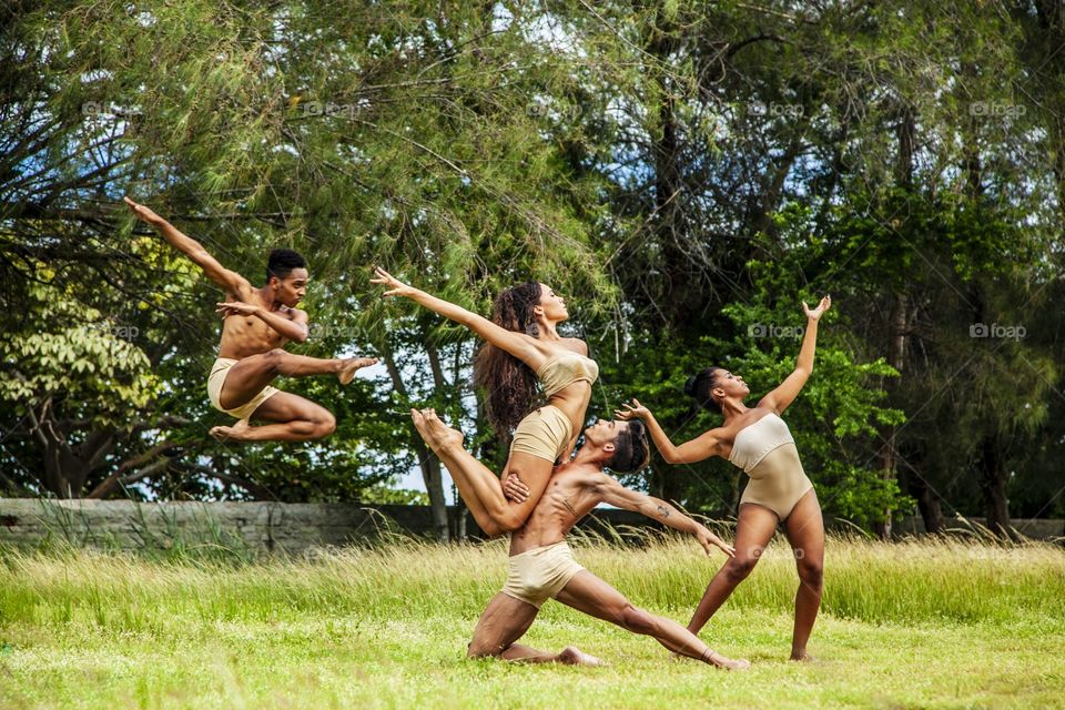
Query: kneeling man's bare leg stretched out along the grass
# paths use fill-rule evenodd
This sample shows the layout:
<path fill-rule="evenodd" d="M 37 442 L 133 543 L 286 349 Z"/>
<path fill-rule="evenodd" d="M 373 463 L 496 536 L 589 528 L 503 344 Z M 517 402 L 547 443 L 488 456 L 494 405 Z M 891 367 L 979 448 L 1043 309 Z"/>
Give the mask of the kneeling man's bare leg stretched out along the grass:
<path fill-rule="evenodd" d="M 671 651 L 728 670 L 746 670 L 750 662 L 732 660 L 717 653 L 694 633 L 676 621 L 638 609 L 620 591 L 587 569 L 578 572 L 556 597 L 578 611 L 620 626 L 633 633 L 655 638 Z"/>

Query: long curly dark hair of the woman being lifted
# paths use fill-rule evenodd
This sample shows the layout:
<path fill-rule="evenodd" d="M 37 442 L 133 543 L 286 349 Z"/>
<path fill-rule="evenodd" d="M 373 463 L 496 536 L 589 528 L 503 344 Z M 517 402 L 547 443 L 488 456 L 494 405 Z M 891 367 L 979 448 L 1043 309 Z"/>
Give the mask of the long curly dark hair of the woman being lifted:
<path fill-rule="evenodd" d="M 539 328 L 532 308 L 544 288 L 529 281 L 505 288 L 491 306 L 491 322 L 508 331 L 536 337 Z M 537 397 L 536 373 L 510 353 L 485 343 L 474 358 L 474 384 L 485 390 L 485 413 L 501 439 L 529 413 Z"/>

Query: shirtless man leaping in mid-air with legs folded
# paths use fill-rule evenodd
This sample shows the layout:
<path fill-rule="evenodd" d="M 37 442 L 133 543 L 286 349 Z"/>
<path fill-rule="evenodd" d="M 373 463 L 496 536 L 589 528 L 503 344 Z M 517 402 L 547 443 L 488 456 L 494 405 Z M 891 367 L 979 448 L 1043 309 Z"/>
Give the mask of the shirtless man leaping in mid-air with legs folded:
<path fill-rule="evenodd" d="M 219 358 L 207 377 L 207 396 L 215 409 L 239 422 L 233 426 L 213 427 L 211 436 L 220 440 L 304 442 L 332 434 L 336 419 L 325 407 L 282 392 L 271 383 L 277 375 L 333 374 L 346 385 L 355 377 L 355 371 L 377 359 L 321 359 L 282 349 L 288 341 L 307 339 L 307 314 L 296 308 L 307 290 L 308 274 L 303 257 L 292 250 L 274 250 L 266 266 L 266 284 L 255 288 L 247 278 L 222 266 L 202 244 L 152 210 L 129 197 L 124 200 L 133 214 L 158 230 L 225 291 L 225 301 L 217 304 L 223 318 L 222 342 Z M 272 424 L 251 426 L 248 419 L 253 416 Z"/>

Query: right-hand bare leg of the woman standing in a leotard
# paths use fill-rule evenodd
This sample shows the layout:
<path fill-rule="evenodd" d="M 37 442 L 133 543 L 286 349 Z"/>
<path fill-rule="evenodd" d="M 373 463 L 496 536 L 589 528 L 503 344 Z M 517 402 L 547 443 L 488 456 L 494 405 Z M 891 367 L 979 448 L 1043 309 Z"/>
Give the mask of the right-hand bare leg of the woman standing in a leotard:
<path fill-rule="evenodd" d="M 799 568 L 799 591 L 795 594 L 795 629 L 791 639 L 791 660 L 813 660 L 807 655 L 807 641 L 821 608 L 824 570 L 824 520 L 818 494 L 810 489 L 800 498 L 784 523 L 788 540 Z"/>

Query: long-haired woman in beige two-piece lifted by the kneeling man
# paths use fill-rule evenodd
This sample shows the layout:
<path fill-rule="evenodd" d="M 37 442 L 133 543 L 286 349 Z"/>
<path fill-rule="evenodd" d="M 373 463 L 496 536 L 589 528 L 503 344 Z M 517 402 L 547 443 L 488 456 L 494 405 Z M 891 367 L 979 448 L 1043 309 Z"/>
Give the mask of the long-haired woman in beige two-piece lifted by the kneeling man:
<path fill-rule="evenodd" d="M 489 321 L 408 286 L 382 268 L 372 282 L 388 288 L 385 296 L 408 297 L 486 341 L 474 363 L 474 377 L 488 393 L 488 418 L 496 432 L 505 437 L 515 429 L 501 477 L 508 479 L 507 494 L 516 500 L 507 499 L 500 478 L 463 448 L 462 434 L 446 427 L 435 412 L 410 414 L 418 433 L 450 471 L 477 525 L 490 536 L 517 530 L 547 489 L 555 462 L 565 463 L 572 453 L 591 385 L 599 376 L 588 345 L 560 337 L 556 331 L 569 317 L 566 303 L 544 284 L 529 282 L 500 293 Z M 529 412 L 537 382 L 548 404 Z M 611 468 L 628 473 L 619 466 Z"/>

